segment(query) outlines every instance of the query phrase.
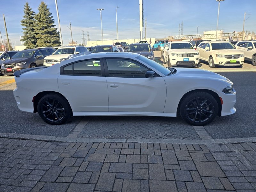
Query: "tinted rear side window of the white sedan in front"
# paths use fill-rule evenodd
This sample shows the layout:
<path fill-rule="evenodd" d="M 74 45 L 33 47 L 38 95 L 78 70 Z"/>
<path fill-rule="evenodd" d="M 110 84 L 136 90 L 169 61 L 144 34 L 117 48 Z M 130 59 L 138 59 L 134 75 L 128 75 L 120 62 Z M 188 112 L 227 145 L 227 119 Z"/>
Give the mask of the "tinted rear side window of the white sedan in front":
<path fill-rule="evenodd" d="M 86 60 L 67 65 L 63 68 L 65 75 L 101 76 L 100 60 Z"/>

